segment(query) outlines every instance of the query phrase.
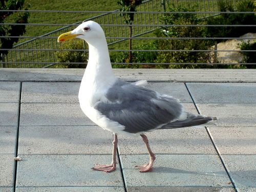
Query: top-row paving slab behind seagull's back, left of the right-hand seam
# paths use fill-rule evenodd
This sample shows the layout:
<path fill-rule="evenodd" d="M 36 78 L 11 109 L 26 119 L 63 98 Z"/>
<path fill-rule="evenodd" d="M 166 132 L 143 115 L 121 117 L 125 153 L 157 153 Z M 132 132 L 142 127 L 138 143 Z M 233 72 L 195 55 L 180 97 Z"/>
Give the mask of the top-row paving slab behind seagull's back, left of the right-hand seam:
<path fill-rule="evenodd" d="M 183 103 L 193 102 L 183 82 L 148 82 L 145 88 L 173 96 Z"/>

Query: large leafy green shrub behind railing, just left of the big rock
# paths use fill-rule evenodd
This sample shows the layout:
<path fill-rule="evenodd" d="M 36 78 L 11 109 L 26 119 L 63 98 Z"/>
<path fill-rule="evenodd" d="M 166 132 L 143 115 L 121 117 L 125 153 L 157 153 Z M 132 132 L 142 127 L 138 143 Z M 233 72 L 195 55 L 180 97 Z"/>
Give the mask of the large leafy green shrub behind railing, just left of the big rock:
<path fill-rule="evenodd" d="M 193 12 L 194 8 L 170 8 L 170 12 Z M 203 20 L 197 18 L 194 13 L 169 13 L 165 14 L 162 18 L 166 25 L 201 25 L 204 24 Z M 158 37 L 206 37 L 205 27 L 197 26 L 174 26 L 168 27 L 156 32 Z M 204 39 L 164 39 L 157 40 L 158 49 L 160 50 L 208 50 L 213 44 L 210 40 Z M 160 52 L 157 55 L 157 62 L 174 62 L 174 63 L 209 63 L 211 61 L 210 52 L 190 52 L 190 51 L 170 51 L 170 52 Z M 161 66 L 163 68 L 201 68 L 205 65 L 169 65 Z M 207 67 L 211 67 L 207 65 Z"/>

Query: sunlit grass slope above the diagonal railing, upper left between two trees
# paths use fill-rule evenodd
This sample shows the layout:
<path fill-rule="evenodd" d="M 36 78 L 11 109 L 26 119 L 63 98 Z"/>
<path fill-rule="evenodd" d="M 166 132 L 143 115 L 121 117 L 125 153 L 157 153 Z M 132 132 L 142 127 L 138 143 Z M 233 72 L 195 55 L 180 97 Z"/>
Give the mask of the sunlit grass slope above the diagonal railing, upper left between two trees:
<path fill-rule="evenodd" d="M 30 10 L 66 10 L 66 11 L 112 11 L 118 8 L 117 3 L 110 0 L 80 1 L 80 0 L 55 0 L 41 1 L 29 0 L 26 4 L 30 4 Z M 84 19 L 96 16 L 93 13 L 44 13 L 33 12 L 29 17 L 31 24 L 73 24 Z M 59 29 L 61 26 L 27 26 L 26 36 L 39 36 L 53 30 Z"/>

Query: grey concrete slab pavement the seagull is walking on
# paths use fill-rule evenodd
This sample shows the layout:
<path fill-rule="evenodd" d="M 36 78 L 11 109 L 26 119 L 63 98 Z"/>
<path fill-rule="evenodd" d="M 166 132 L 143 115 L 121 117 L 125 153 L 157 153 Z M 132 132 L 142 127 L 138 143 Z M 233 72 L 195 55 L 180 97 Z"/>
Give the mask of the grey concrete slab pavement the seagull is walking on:
<path fill-rule="evenodd" d="M 0 81 L 0 191 L 256 191 L 256 82 L 153 79 L 148 88 L 218 125 L 148 133 L 157 158 L 150 173 L 135 168 L 148 161 L 141 138 L 119 136 L 120 163 L 106 174 L 90 167 L 111 162 L 112 135 L 81 112 L 79 81 L 26 73 Z"/>

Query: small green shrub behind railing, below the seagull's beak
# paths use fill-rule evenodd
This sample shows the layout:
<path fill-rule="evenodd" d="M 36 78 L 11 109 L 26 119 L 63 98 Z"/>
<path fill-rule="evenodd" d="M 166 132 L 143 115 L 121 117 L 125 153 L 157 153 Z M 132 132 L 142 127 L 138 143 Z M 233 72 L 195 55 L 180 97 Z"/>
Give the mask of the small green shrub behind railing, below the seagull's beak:
<path fill-rule="evenodd" d="M 65 41 L 61 43 L 60 49 L 83 50 L 84 43 L 81 40 Z M 62 68 L 85 68 L 86 65 L 72 64 L 69 62 L 86 62 L 88 53 L 85 51 L 57 51 L 55 53 L 58 62 L 67 62 L 67 64 L 59 64 L 55 67 Z"/>

